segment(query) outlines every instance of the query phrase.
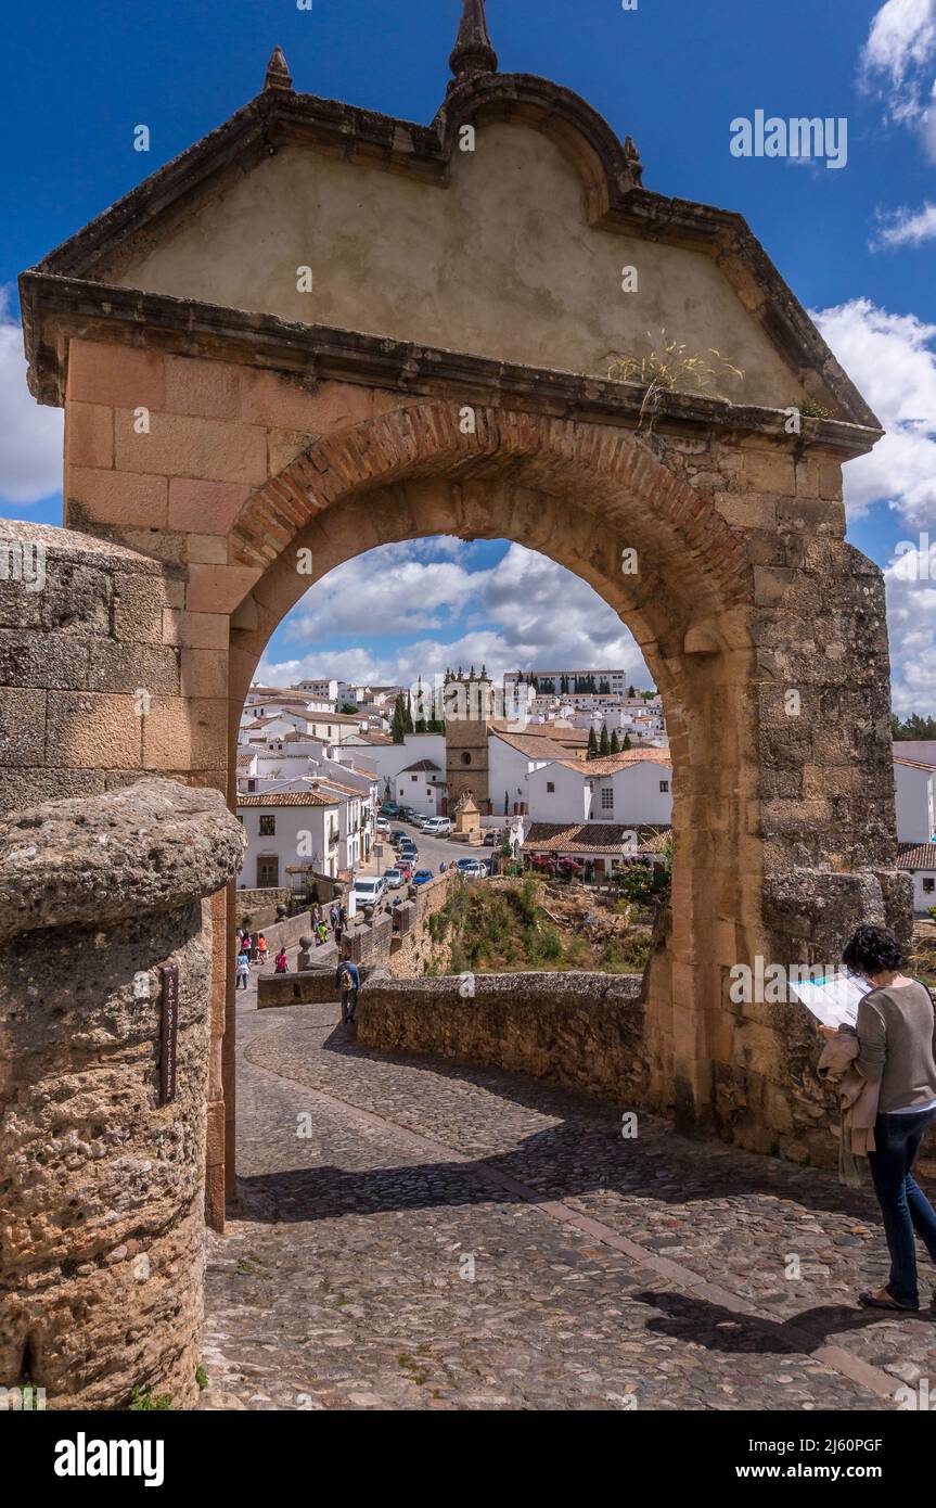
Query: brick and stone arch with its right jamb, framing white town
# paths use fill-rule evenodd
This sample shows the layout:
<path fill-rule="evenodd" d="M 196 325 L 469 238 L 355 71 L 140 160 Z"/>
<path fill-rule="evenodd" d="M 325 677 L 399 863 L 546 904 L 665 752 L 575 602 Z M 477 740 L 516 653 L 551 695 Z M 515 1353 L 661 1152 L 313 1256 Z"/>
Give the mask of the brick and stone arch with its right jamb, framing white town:
<path fill-rule="evenodd" d="M 550 556 L 615 608 L 665 698 L 675 769 L 674 926 L 645 985 L 648 1098 L 707 1123 L 720 971 L 754 952 L 760 849 L 752 572 L 711 496 L 638 437 L 494 407 L 401 404 L 323 439 L 259 487 L 234 522 L 232 558 L 256 581 L 232 615 L 232 740 L 270 635 L 304 591 L 378 544 L 433 534 L 505 537 Z M 641 569 L 621 570 L 635 546 Z M 295 570 L 297 552 L 314 570 Z M 366 603 L 362 603 L 366 611 Z M 231 799 L 235 798 L 232 786 Z M 698 938 L 717 938 L 699 955 Z M 234 1063 L 228 1095 L 234 1096 Z"/>

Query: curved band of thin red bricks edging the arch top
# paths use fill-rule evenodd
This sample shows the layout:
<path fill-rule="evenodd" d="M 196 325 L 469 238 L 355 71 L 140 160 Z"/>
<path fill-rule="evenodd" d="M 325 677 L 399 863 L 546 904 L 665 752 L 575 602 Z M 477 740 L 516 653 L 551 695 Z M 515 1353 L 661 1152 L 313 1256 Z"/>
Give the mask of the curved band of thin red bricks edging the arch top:
<path fill-rule="evenodd" d="M 710 498 L 695 492 L 632 434 L 609 425 L 472 406 L 473 433 L 464 434 L 463 406 L 422 400 L 324 436 L 244 505 L 232 531 L 232 553 L 265 570 L 295 535 L 335 502 L 407 477 L 506 469 L 528 460 L 553 469 L 561 487 L 591 484 L 644 504 L 641 525 L 656 531 L 663 553 L 678 552 L 683 570 L 698 573 L 708 599 L 734 606 L 749 594 L 749 564 L 739 534 Z M 586 493 L 583 493 L 586 496 Z"/>

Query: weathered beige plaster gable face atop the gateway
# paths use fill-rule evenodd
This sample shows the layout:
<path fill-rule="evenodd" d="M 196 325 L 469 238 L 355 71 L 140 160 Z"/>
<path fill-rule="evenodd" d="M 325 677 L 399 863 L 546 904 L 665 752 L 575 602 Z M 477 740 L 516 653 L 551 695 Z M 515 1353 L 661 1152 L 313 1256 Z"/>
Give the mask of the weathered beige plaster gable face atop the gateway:
<path fill-rule="evenodd" d="M 636 293 L 621 290 L 626 265 Z M 312 268 L 312 293 L 297 291 L 298 267 Z M 479 127 L 446 188 L 280 148 L 96 276 L 604 377 L 609 350 L 642 350 L 665 327 L 745 372 L 725 397 L 782 409 L 803 395 L 710 256 L 589 226 L 577 170 L 517 122 Z"/>

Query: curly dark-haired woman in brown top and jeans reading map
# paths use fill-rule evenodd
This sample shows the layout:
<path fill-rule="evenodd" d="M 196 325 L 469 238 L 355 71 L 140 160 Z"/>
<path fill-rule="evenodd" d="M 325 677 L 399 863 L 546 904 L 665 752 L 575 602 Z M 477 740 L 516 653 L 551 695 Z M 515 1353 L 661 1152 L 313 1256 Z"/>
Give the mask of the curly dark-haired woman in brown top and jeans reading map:
<path fill-rule="evenodd" d="M 891 1253 L 886 1288 L 864 1292 L 858 1301 L 865 1309 L 913 1312 L 919 1309 L 915 1237 L 936 1264 L 936 1211 L 912 1175 L 919 1143 L 936 1119 L 933 1000 L 924 985 L 903 973 L 903 949 L 889 927 L 859 927 L 843 962 L 871 985 L 858 1007 L 855 1062 L 877 1090 L 868 1163 Z M 936 1313 L 936 1291 L 930 1307 Z"/>

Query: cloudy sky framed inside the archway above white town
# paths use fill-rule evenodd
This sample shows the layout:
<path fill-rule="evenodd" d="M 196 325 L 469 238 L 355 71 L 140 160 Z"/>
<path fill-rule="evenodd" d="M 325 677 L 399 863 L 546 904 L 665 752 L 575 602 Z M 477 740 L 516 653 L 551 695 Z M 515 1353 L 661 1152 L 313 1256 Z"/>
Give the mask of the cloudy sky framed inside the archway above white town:
<path fill-rule="evenodd" d="M 449 559 L 414 561 L 407 544 L 369 550 L 330 572 L 286 623 L 286 639 L 326 647 L 297 659 L 264 659 L 259 679 L 273 685 L 320 674 L 344 680 L 411 685 L 449 665 L 485 664 L 494 679 L 531 665 L 622 667 L 650 685 L 641 651 L 616 612 L 579 576 L 544 555 L 511 544 L 484 570 L 469 569 L 470 544 L 440 541 Z M 433 546 L 436 541 L 433 541 Z M 425 549 L 424 549 L 425 553 Z M 431 552 L 430 552 L 431 553 Z M 454 556 L 454 558 L 452 558 Z M 439 632 L 451 608 L 449 633 Z M 433 615 L 427 624 L 427 614 Z M 374 642 L 410 636 L 407 644 Z M 357 633 L 369 647 L 330 650 Z"/>

